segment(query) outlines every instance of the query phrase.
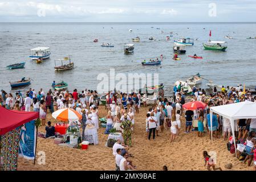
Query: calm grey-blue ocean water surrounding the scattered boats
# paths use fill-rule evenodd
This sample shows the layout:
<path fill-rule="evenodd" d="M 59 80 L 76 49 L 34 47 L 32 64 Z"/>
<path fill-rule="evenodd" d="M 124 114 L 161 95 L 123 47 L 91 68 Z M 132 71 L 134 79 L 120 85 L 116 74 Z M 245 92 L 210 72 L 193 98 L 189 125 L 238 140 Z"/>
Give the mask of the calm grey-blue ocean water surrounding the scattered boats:
<path fill-rule="evenodd" d="M 152 28 L 153 27 L 153 28 Z M 157 29 L 160 28 L 160 29 Z M 132 32 L 128 30 L 132 29 Z M 209 40 L 227 42 L 226 52 L 206 51 L 203 42 Z M 256 72 L 256 23 L 0 23 L 0 89 L 6 92 L 40 88 L 48 90 L 52 81 L 65 81 L 68 89 L 97 89 L 97 76 L 115 73 L 158 73 L 159 83 L 165 85 L 165 93 L 172 90 L 174 82 L 200 75 L 218 85 L 236 86 L 245 84 L 255 88 Z M 163 31 L 163 33 L 162 33 Z M 169 32 L 173 37 L 166 40 Z M 230 35 L 233 39 L 225 39 Z M 124 44 L 140 37 L 131 55 L 124 55 Z M 156 40 L 149 40 L 153 36 Z M 174 61 L 173 39 L 193 38 L 194 46 L 186 46 L 186 54 Z M 98 43 L 93 40 L 98 39 Z M 197 40 L 196 40 L 197 39 Z M 101 47 L 101 43 L 112 43 L 115 47 Z M 50 59 L 42 64 L 30 60 L 30 49 L 50 47 Z M 192 59 L 188 55 L 204 57 Z M 143 66 L 144 59 L 164 56 L 161 65 Z M 71 55 L 75 68 L 55 72 L 54 60 Z M 25 69 L 6 69 L 9 64 L 26 61 Z M 31 85 L 11 89 L 9 81 L 32 78 Z M 207 88 L 203 80 L 200 88 Z"/>

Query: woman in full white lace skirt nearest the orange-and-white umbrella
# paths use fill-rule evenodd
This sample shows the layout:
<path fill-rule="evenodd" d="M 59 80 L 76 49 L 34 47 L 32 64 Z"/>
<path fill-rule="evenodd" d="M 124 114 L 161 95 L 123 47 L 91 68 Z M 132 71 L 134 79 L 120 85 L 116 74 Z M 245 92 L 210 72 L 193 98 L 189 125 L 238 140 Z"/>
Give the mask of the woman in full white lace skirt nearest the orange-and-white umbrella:
<path fill-rule="evenodd" d="M 84 139 L 89 143 L 99 143 L 97 129 L 95 127 L 94 121 L 92 121 L 92 114 L 88 114 L 88 119 L 86 121 L 86 129 L 84 130 Z"/>

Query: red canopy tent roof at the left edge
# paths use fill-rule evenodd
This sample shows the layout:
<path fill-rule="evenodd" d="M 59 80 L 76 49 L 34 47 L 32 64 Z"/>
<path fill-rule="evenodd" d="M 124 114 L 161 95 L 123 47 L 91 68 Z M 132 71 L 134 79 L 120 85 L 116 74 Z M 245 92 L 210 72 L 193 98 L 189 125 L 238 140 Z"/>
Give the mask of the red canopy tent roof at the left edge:
<path fill-rule="evenodd" d="M 0 106 L 0 135 L 37 118 L 38 112 L 8 110 Z"/>

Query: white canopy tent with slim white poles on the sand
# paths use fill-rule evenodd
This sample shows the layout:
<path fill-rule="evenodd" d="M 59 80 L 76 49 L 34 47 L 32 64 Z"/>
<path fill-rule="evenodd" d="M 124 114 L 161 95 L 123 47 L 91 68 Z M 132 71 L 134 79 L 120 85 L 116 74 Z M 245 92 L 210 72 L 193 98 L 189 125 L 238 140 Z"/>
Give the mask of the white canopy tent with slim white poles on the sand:
<path fill-rule="evenodd" d="M 245 102 L 238 102 L 235 104 L 227 104 L 227 105 L 210 107 L 210 126 L 211 126 L 212 139 L 213 139 L 213 131 L 212 131 L 213 113 L 222 115 L 223 117 L 230 120 L 231 130 L 232 130 L 232 135 L 234 138 L 234 145 L 235 145 L 234 120 L 256 118 L 256 103 L 245 101 Z M 236 147 L 235 147 L 235 155 L 237 155 Z"/>

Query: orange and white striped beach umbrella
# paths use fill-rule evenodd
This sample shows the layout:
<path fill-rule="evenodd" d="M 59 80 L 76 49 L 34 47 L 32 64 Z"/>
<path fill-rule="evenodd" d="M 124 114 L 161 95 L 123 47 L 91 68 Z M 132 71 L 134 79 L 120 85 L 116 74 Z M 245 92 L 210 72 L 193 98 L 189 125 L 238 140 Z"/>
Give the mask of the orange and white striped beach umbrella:
<path fill-rule="evenodd" d="M 82 119 L 82 115 L 78 111 L 70 108 L 56 110 L 52 113 L 52 117 L 64 122 L 73 122 Z"/>

